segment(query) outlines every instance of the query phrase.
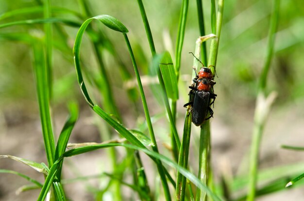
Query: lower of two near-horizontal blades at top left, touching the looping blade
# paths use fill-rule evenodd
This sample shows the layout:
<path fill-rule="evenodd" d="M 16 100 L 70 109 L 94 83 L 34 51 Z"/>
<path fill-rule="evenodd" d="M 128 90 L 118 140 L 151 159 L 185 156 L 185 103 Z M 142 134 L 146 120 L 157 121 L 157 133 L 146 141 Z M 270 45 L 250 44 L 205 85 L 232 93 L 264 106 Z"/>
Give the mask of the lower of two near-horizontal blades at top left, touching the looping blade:
<path fill-rule="evenodd" d="M 12 27 L 16 25 L 32 25 L 32 24 L 45 24 L 45 23 L 62 23 L 71 27 L 80 27 L 80 23 L 70 20 L 70 19 L 62 19 L 62 18 L 48 18 L 48 19 L 27 19 L 20 20 L 14 22 L 8 22 L 4 24 L 0 24 L 0 29 L 6 27 Z"/>

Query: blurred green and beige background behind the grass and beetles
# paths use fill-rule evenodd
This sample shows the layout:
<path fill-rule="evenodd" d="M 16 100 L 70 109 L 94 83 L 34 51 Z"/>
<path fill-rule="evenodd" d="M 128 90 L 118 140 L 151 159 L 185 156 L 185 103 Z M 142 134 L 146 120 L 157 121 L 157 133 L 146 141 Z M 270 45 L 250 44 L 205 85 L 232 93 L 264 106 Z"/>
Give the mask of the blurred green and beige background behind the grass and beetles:
<path fill-rule="evenodd" d="M 129 30 L 129 38 L 135 52 L 135 59 L 146 80 L 148 65 L 151 61 L 150 47 L 137 2 L 115 0 L 98 1 L 88 0 L 89 10 L 92 16 L 112 15 L 120 20 Z M 0 24 L 25 19 L 43 18 L 42 12 L 31 15 L 5 14 L 21 8 L 36 8 L 41 5 L 39 0 L 1 0 Z M 181 1 L 159 0 L 144 1 L 146 13 L 157 52 L 169 50 L 172 57 L 179 21 Z M 81 24 L 86 18 L 80 19 L 68 12 L 55 12 L 55 8 L 67 8 L 77 13 L 82 13 L 77 1 L 51 0 L 54 7 L 53 17 L 71 19 Z M 210 29 L 210 2 L 203 1 L 206 34 Z M 190 83 L 192 73 L 192 55 L 195 41 L 199 37 L 196 2 L 190 1 L 188 8 L 186 33 L 182 54 L 180 100 L 178 101 L 177 125 L 183 125 L 186 109 L 183 105 L 187 102 L 187 86 Z M 248 151 L 251 141 L 253 112 L 257 93 L 257 79 L 266 55 L 267 35 L 271 1 L 264 0 L 226 0 L 224 6 L 223 24 L 220 38 L 218 62 L 216 66 L 215 92 L 218 94 L 215 103 L 214 119 L 212 126 L 212 162 L 215 175 L 221 172 L 235 175 L 248 171 Z M 120 34 L 103 29 L 103 25 L 93 23 L 95 29 L 101 28 L 102 34 L 109 38 L 115 47 L 121 62 L 127 67 L 133 79 L 132 63 L 129 59 L 126 46 Z M 97 141 L 100 142 L 98 130 L 94 125 L 94 117 L 79 90 L 76 72 L 73 64 L 72 46 L 77 27 L 68 27 L 62 24 L 53 26 L 53 100 L 52 116 L 54 119 L 55 133 L 60 132 L 65 116 L 67 104 L 77 100 L 81 105 L 80 120 L 71 135 L 71 142 Z M 266 124 L 261 147 L 261 168 L 276 167 L 283 164 L 304 161 L 304 153 L 292 152 L 280 149 L 281 144 L 302 146 L 304 144 L 304 6 L 302 0 L 281 1 L 278 32 L 275 40 L 274 56 L 271 62 L 268 79 L 268 91 L 277 92 L 273 108 L 270 112 L 269 122 Z M 0 29 L 0 154 L 17 155 L 36 161 L 45 161 L 43 139 L 40 134 L 39 110 L 36 98 L 36 89 L 33 76 L 33 49 L 26 42 L 27 35 L 43 37 L 43 25 L 20 25 Z M 67 37 L 68 46 L 62 44 L 62 34 Z M 86 36 L 82 44 L 84 64 L 89 72 L 97 72 L 97 61 L 93 48 Z M 118 104 L 127 126 L 133 127 L 143 120 L 142 106 L 139 97 L 137 104 L 128 102 L 127 93 L 119 74 L 120 65 L 116 58 L 111 56 L 109 48 L 111 44 L 104 41 L 101 48 L 108 76 L 112 83 L 115 100 Z M 209 50 L 209 42 L 207 42 Z M 98 78 L 98 77 L 97 77 Z M 129 80 L 132 84 L 132 79 Z M 129 83 L 130 84 L 130 83 Z M 149 81 L 148 81 L 149 84 Z M 147 85 L 148 85 L 147 84 Z M 150 88 L 145 86 L 148 96 L 148 104 L 152 115 L 162 113 L 163 105 L 152 97 Z M 93 91 L 93 87 L 91 87 Z M 136 88 L 136 87 L 135 87 Z M 96 92 L 97 99 L 99 94 Z M 155 124 L 160 124 L 159 122 Z M 162 124 L 160 124 L 162 125 Z M 159 127 L 159 144 L 169 143 L 168 126 Z M 182 126 L 179 126 L 182 129 Z M 193 128 L 197 139 L 199 130 Z M 165 133 L 165 134 L 164 134 Z M 198 146 L 198 145 L 197 145 Z M 190 160 L 196 160 L 196 148 Z M 87 154 L 70 160 L 75 163 L 80 171 L 85 168 L 100 167 L 99 153 Z M 68 160 L 67 160 L 68 161 Z M 192 163 L 191 162 L 191 163 Z M 80 165 L 82 164 L 82 165 Z M 95 164 L 95 165 L 94 165 Z M 72 166 L 72 165 L 71 165 Z M 103 166 L 102 166 L 103 167 Z M 1 160 L 0 168 L 20 170 L 34 174 L 29 168 L 24 168 L 16 162 Z M 103 167 L 106 168 L 106 167 Z M 75 170 L 77 172 L 77 170 Z M 77 175 L 66 172 L 67 177 Z M 36 175 L 37 176 L 37 175 Z M 71 176 L 72 177 L 72 176 Z M 10 181 L 9 185 L 7 181 Z M 23 182 L 23 181 L 22 181 Z M 96 184 L 95 184 L 96 185 Z M 20 186 L 19 180 L 12 175 L 0 177 L 0 200 L 31 200 L 37 194 L 26 192 L 16 196 L 14 191 Z M 78 187 L 78 186 L 77 186 Z M 75 194 L 73 200 L 90 200 L 91 193 L 83 190 L 83 193 L 75 192 L 77 187 L 69 188 L 69 195 Z M 39 193 L 39 192 L 35 192 Z M 76 197 L 78 195 L 78 198 Z M 281 194 L 271 194 L 270 197 L 262 197 L 260 200 L 299 200 L 304 196 L 301 191 L 283 191 Z M 301 200 L 301 199 L 300 199 Z"/>

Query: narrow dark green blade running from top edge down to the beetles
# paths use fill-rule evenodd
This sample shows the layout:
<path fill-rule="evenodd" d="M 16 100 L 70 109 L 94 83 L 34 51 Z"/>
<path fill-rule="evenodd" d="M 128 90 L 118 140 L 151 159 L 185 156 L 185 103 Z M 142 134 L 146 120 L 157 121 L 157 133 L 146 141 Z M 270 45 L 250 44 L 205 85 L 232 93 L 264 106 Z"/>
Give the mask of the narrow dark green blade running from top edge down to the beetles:
<path fill-rule="evenodd" d="M 205 25 L 204 25 L 204 17 L 203 17 L 202 0 L 196 0 L 196 6 L 197 6 L 198 19 L 199 19 L 200 34 L 201 34 L 201 36 L 204 36 L 205 35 Z M 206 42 L 202 43 L 202 62 L 205 64 L 207 63 Z"/>

